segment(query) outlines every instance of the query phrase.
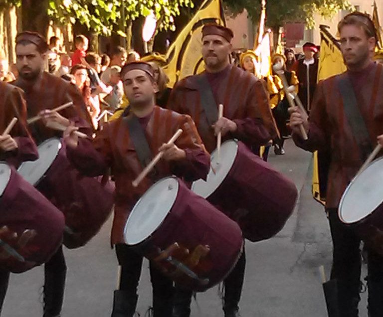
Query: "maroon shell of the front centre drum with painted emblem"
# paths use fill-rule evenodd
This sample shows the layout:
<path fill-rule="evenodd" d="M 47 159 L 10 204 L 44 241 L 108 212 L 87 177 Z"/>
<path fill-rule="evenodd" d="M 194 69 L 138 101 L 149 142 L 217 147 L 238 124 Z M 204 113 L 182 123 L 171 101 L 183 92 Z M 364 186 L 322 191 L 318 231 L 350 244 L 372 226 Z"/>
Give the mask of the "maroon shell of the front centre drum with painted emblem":
<path fill-rule="evenodd" d="M 199 278 L 209 279 L 208 284 L 196 283 L 186 275 L 170 277 L 183 288 L 203 292 L 222 281 L 233 269 L 242 252 L 243 238 L 237 223 L 194 194 L 183 181 L 179 180 L 179 184 L 177 199 L 163 223 L 132 249 L 153 260 L 158 256 L 158 248 L 166 250 L 175 242 L 190 253 L 197 246 L 208 245 L 209 253 L 192 269 Z"/>

